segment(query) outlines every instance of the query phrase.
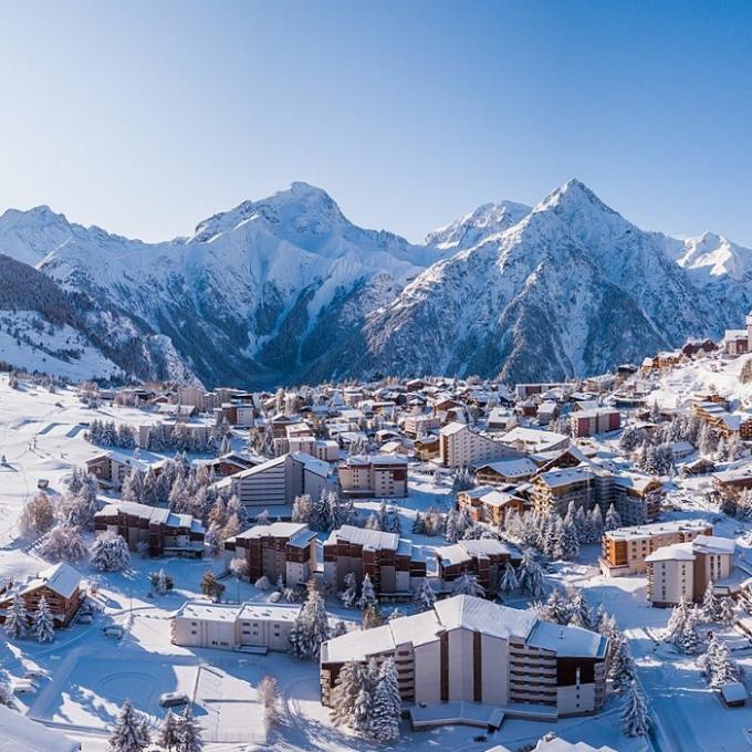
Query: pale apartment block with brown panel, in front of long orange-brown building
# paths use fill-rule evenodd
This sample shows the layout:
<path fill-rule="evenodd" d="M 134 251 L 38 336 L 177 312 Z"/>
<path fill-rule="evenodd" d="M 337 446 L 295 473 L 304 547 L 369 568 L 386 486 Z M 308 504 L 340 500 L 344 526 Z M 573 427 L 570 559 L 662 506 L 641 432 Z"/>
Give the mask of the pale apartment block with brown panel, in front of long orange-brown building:
<path fill-rule="evenodd" d="M 682 598 L 700 603 L 709 583 L 729 576 L 735 549 L 729 537 L 702 534 L 657 549 L 645 557 L 648 600 L 661 608 L 676 606 Z"/>

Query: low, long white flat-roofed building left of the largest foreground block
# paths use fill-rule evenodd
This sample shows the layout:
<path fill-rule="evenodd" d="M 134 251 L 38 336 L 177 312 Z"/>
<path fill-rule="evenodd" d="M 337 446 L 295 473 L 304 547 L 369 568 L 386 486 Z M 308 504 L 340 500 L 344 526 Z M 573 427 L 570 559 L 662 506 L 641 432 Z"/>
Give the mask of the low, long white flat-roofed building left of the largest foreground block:
<path fill-rule="evenodd" d="M 171 640 L 174 645 L 195 648 L 288 650 L 300 609 L 296 604 L 188 600 L 171 619 Z"/>

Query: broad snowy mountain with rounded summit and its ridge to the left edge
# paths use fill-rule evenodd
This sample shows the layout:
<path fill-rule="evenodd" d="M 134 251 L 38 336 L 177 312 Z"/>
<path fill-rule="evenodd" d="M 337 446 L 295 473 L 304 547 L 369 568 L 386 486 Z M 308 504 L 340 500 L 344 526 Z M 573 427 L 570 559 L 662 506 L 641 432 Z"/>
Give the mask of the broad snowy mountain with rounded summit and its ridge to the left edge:
<path fill-rule="evenodd" d="M 303 182 L 155 244 L 11 210 L 0 251 L 167 336 L 205 384 L 246 386 L 303 378 L 439 257 L 355 227 Z"/>

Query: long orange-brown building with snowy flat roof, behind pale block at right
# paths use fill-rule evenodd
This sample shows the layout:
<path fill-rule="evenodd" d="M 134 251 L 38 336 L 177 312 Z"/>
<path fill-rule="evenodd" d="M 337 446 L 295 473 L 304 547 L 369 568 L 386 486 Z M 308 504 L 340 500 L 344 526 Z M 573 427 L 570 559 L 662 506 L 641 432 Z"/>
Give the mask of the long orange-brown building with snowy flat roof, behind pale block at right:
<path fill-rule="evenodd" d="M 672 520 L 610 530 L 603 536 L 600 571 L 612 577 L 640 574 L 654 551 L 712 534 L 713 528 L 706 520 Z"/>

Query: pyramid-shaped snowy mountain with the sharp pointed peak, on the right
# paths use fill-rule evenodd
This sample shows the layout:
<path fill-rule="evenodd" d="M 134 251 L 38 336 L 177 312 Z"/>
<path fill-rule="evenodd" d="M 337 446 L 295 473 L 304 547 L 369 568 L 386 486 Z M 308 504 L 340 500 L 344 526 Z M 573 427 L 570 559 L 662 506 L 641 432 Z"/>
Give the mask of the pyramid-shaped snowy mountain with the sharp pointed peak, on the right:
<path fill-rule="evenodd" d="M 680 265 L 692 243 L 640 230 L 571 180 L 370 315 L 352 370 L 556 379 L 719 336 L 752 288 L 745 273 L 701 284 Z"/>

